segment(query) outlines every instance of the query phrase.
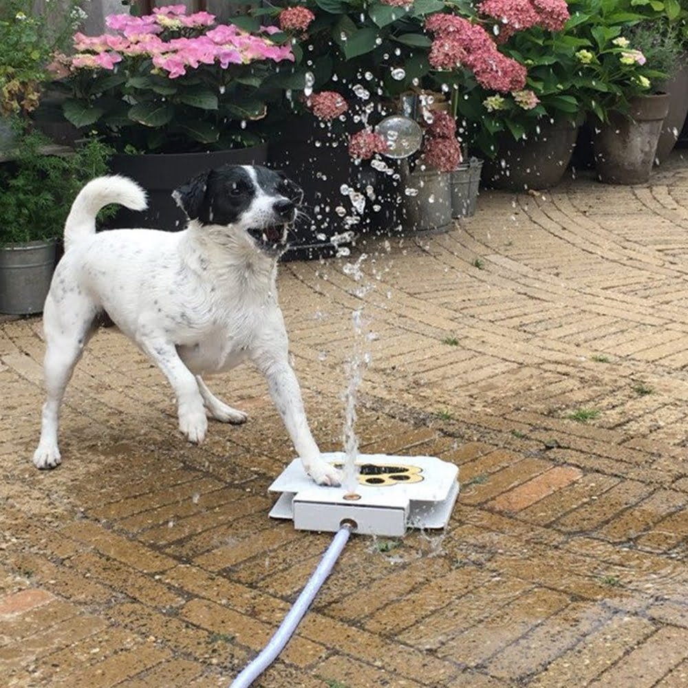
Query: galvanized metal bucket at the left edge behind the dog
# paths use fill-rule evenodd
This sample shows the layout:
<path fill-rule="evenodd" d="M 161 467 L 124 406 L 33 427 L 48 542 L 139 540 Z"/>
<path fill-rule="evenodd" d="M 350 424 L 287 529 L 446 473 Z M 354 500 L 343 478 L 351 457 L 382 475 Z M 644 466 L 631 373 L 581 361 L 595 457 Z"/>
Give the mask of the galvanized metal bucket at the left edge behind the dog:
<path fill-rule="evenodd" d="M 55 239 L 0 246 L 0 313 L 43 312 L 55 269 Z"/>

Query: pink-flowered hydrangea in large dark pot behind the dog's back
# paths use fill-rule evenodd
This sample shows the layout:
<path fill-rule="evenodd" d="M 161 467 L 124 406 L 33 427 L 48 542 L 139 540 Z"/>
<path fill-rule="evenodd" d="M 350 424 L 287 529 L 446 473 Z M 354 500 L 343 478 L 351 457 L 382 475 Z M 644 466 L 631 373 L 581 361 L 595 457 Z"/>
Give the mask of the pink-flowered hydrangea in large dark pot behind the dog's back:
<path fill-rule="evenodd" d="M 266 146 L 253 127 L 267 110 L 264 80 L 294 59 L 287 37 L 217 23 L 183 5 L 153 14 L 107 17 L 111 33 L 74 35 L 71 56 L 58 56 L 64 115 L 114 147 L 111 169 L 149 191 L 143 216 L 118 213 L 115 226 L 175 229 L 184 213 L 171 191 L 190 175 L 226 162 L 259 164 Z"/>

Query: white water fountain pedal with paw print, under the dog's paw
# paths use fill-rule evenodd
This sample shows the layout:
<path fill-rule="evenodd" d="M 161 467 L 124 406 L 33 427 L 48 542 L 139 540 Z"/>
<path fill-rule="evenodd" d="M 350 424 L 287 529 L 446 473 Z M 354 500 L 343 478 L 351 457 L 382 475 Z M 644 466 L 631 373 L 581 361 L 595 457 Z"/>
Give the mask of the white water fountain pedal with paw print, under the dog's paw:
<path fill-rule="evenodd" d="M 336 466 L 343 452 L 323 454 Z M 335 533 L 343 522 L 354 533 L 400 537 L 407 528 L 444 528 L 459 494 L 458 468 L 434 456 L 361 454 L 358 486 L 354 493 L 343 487 L 314 484 L 294 459 L 270 485 L 282 493 L 270 516 L 293 519 L 297 530 Z"/>

